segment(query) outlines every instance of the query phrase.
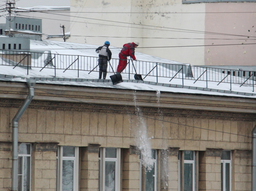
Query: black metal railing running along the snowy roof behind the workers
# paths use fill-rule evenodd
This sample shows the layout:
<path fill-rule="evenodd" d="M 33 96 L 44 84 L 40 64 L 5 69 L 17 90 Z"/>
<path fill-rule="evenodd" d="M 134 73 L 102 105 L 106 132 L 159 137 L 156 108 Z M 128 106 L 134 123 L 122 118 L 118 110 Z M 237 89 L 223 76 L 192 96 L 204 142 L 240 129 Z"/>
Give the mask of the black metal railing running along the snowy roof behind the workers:
<path fill-rule="evenodd" d="M 107 68 L 107 72 L 116 72 L 119 59 L 111 59 Z M 12 50 L 0 50 L 0 65 L 25 67 L 27 74 L 31 68 L 40 68 L 39 71 L 46 69 L 53 70 L 53 76 L 56 76 L 56 70 L 75 70 L 79 78 L 79 72 L 88 71 L 98 72 L 98 57 L 80 56 L 80 55 L 61 55 L 53 54 L 50 51 L 41 52 L 24 52 Z M 49 72 L 49 70 L 47 71 Z M 122 73 L 141 74 L 143 79 L 155 77 L 156 82 L 161 78 L 170 79 L 170 83 L 174 79 L 181 79 L 182 85 L 184 80 L 205 81 L 206 87 L 208 82 L 229 83 L 231 84 L 250 85 L 254 92 L 254 83 L 256 79 L 255 71 L 231 70 L 209 67 L 190 66 L 190 64 L 167 64 L 148 61 L 135 61 L 128 59 L 128 64 Z M 133 79 L 133 76 L 131 76 Z M 152 80 L 152 78 L 151 78 Z"/>

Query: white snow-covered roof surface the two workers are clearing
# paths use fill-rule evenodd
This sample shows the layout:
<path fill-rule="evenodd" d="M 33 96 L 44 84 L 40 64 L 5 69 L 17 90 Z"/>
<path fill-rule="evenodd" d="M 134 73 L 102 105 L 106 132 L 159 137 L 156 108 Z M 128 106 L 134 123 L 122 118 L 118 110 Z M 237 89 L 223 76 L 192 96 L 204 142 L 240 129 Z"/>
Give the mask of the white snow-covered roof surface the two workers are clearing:
<path fill-rule="evenodd" d="M 98 57 L 98 54 L 95 52 L 95 49 L 100 45 L 90 45 L 90 44 L 79 44 L 79 43 L 70 43 L 70 42 L 59 42 L 59 41 L 35 41 L 31 40 L 31 51 L 41 51 L 41 52 L 51 52 L 56 55 L 81 55 L 88 57 Z M 120 48 L 109 46 L 112 51 L 112 58 L 118 60 L 118 54 Z M 144 64 L 142 61 L 151 62 L 151 63 L 166 63 L 166 64 L 176 64 L 176 65 L 185 65 L 183 63 L 175 62 L 172 60 L 163 59 L 160 57 L 155 57 L 143 53 L 136 52 L 136 58 L 139 60 L 140 69 L 147 67 L 147 63 Z M 170 77 L 159 77 L 155 76 L 146 76 L 144 81 L 133 80 L 133 75 L 122 73 L 122 78 L 124 82 L 118 83 L 116 85 L 112 84 L 110 76 L 114 73 L 108 66 L 109 72 L 107 74 L 106 80 L 98 79 L 97 71 L 78 71 L 76 70 L 65 70 L 53 68 L 36 68 L 33 67 L 33 62 L 37 62 L 38 59 L 32 59 L 31 69 L 27 74 L 27 68 L 24 67 L 13 67 L 12 66 L 3 66 L 2 63 L 5 61 L 0 59 L 0 77 L 1 80 L 8 81 L 19 81 L 26 82 L 26 78 L 33 78 L 37 80 L 37 83 L 45 84 L 60 84 L 60 85 L 75 85 L 75 86 L 89 86 L 89 87 L 101 87 L 101 88 L 117 88 L 117 89 L 129 89 L 129 90 L 145 90 L 145 91 L 157 91 L 157 92 L 175 92 L 175 93 L 189 93 L 189 94 L 205 94 L 205 95 L 220 95 L 220 96 L 235 96 L 235 97 L 249 97 L 256 98 L 256 93 L 254 93 L 253 85 L 242 85 L 241 83 L 235 83 L 235 81 L 240 81 L 240 77 L 236 77 L 234 82 L 224 83 L 224 82 L 213 82 L 213 81 L 196 81 L 196 78 L 184 78 L 178 79 L 173 78 L 170 82 Z M 113 60 L 112 59 L 112 60 Z M 135 61 L 134 61 L 135 62 Z M 118 64 L 118 61 L 117 61 Z M 132 67 L 132 66 L 130 66 Z M 164 70 L 166 73 L 175 74 L 177 71 L 171 71 L 161 65 L 158 66 L 159 69 Z M 192 66 L 193 67 L 193 66 Z M 93 68 L 91 68 L 93 69 Z M 199 68 L 200 69 L 200 68 Z M 40 71 L 41 70 L 41 71 Z M 114 68 L 114 71 L 116 68 Z M 201 73 L 203 70 L 200 69 Z M 138 70 L 137 70 L 138 71 Z M 142 70 L 140 70 L 142 71 Z M 55 76 L 56 72 L 56 76 Z M 211 71 L 212 76 L 215 78 L 223 78 L 222 73 L 217 73 Z M 129 79 L 130 77 L 130 79 Z M 219 80 L 220 81 L 220 80 Z M 254 83 L 250 83 L 254 84 Z M 231 89 L 232 86 L 232 90 Z"/>

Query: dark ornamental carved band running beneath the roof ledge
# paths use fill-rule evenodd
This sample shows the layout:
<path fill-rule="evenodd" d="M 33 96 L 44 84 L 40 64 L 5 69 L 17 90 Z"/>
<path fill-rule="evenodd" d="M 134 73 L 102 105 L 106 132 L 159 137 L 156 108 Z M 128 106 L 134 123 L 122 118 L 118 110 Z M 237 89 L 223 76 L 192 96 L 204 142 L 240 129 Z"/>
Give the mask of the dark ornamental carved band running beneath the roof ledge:
<path fill-rule="evenodd" d="M 98 99 L 95 98 L 95 99 Z M 0 98 L 0 107 L 4 108 L 20 108 L 23 99 L 4 99 Z M 53 111 L 78 111 L 78 112 L 93 112 L 93 113 L 117 113 L 117 114 L 136 114 L 135 106 L 128 105 L 113 105 L 113 104 L 89 104 L 82 102 L 67 102 L 67 101 L 46 101 L 33 99 L 28 106 L 28 109 L 36 110 L 53 110 Z M 182 118 L 198 118 L 198 119 L 218 119 L 218 120 L 233 120 L 233 121 L 255 121 L 256 114 L 254 113 L 238 113 L 238 112 L 222 112 L 209 110 L 192 110 L 192 109 L 175 109 L 175 108 L 158 108 L 158 107 L 143 107 L 140 110 L 145 116 L 160 116 L 161 117 L 182 117 Z"/>

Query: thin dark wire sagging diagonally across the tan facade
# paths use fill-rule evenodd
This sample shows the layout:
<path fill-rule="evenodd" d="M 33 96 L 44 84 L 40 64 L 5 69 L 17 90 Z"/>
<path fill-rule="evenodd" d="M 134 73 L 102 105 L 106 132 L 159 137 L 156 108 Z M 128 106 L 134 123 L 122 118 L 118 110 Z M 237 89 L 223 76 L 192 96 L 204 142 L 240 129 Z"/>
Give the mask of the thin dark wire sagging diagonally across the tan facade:
<path fill-rule="evenodd" d="M 11 81 L 11 80 L 6 79 L 6 78 L 3 78 L 3 77 L 0 77 L 0 78 L 2 78 L 2 79 L 4 79 L 4 80 L 8 80 L 8 81 L 10 81 L 10 82 L 18 83 L 18 84 L 20 84 L 20 85 L 24 85 L 23 83 Z M 24 85 L 24 86 L 25 86 L 25 87 L 29 87 L 28 85 Z M 42 92 L 48 93 L 48 94 L 55 95 L 55 96 L 57 96 L 57 97 L 68 98 L 68 99 L 70 99 L 70 100 L 73 100 L 73 101 L 76 101 L 76 102 L 80 102 L 80 103 L 84 103 L 84 104 L 88 104 L 88 105 L 91 105 L 91 106 L 94 106 L 94 107 L 103 108 L 103 109 L 108 109 L 108 110 L 112 110 L 112 111 L 122 112 L 123 114 L 127 114 L 127 115 L 135 115 L 135 116 L 137 116 L 137 117 L 143 117 L 143 118 L 147 118 L 147 119 L 153 119 L 153 120 L 157 120 L 157 121 L 161 121 L 161 122 L 166 122 L 166 123 L 171 123 L 171 124 L 176 124 L 176 125 L 183 125 L 183 126 L 186 126 L 186 127 L 193 127 L 193 128 L 199 128 L 199 129 L 208 130 L 208 131 L 213 131 L 213 132 L 218 132 L 218 133 L 226 133 L 226 134 L 230 134 L 230 135 L 237 135 L 237 136 L 243 136 L 243 137 L 252 138 L 252 136 L 248 136 L 248 135 L 240 135 L 240 134 L 235 134 L 235 133 L 222 132 L 222 131 L 217 131 L 217 130 L 213 130 L 213 129 L 207 129 L 207 128 L 202 128 L 202 127 L 196 127 L 196 126 L 186 125 L 186 124 L 181 124 L 181 123 L 174 123 L 174 122 L 165 121 L 165 120 L 161 120 L 161 119 L 155 119 L 155 118 L 147 117 L 147 116 L 144 116 L 144 115 L 139 115 L 139 114 L 130 113 L 130 112 L 123 111 L 123 110 L 108 108 L 108 107 L 104 107 L 104 106 L 98 106 L 98 105 L 96 105 L 96 104 L 87 103 L 87 102 L 85 102 L 85 101 L 81 101 L 81 100 L 78 100 L 78 99 L 74 99 L 74 98 L 70 98 L 70 97 L 65 97 L 65 96 L 62 96 L 62 95 L 59 95 L 59 94 L 54 94 L 54 93 L 52 93 L 52 92 L 48 92 L 48 91 L 45 91 L 45 90 L 41 90 L 41 89 L 39 89 L 39 88 L 34 88 L 34 89 L 35 89 L 35 90 L 38 90 L 38 91 L 42 91 Z"/>

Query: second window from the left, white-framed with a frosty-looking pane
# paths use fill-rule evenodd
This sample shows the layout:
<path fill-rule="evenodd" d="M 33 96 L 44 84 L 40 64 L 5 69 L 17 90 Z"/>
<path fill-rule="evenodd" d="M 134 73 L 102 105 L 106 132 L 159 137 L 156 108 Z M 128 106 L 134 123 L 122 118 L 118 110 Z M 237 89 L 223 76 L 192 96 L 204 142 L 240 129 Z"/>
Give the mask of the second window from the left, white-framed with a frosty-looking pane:
<path fill-rule="evenodd" d="M 78 191 L 78 155 L 78 147 L 58 147 L 58 191 Z"/>

